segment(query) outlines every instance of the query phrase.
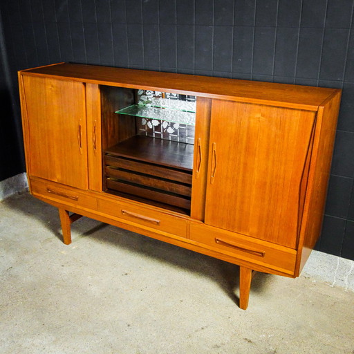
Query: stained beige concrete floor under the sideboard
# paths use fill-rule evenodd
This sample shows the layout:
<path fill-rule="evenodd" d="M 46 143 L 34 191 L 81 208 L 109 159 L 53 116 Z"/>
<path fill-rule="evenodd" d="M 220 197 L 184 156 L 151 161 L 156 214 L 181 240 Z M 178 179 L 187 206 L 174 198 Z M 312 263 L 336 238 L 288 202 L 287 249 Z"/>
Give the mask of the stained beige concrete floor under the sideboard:
<path fill-rule="evenodd" d="M 354 353 L 354 293 L 258 273 L 57 209 L 0 203 L 0 353 Z"/>

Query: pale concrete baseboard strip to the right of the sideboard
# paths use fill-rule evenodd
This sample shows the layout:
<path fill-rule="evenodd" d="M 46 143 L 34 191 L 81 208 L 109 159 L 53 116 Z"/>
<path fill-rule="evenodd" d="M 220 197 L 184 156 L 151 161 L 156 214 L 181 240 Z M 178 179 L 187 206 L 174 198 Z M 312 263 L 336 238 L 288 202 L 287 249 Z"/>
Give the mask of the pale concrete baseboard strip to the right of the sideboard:
<path fill-rule="evenodd" d="M 314 250 L 301 272 L 301 277 L 311 277 L 324 281 L 329 286 L 354 291 L 354 261 Z"/>

